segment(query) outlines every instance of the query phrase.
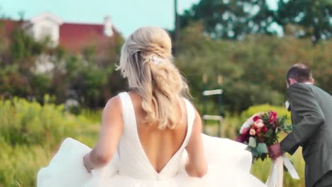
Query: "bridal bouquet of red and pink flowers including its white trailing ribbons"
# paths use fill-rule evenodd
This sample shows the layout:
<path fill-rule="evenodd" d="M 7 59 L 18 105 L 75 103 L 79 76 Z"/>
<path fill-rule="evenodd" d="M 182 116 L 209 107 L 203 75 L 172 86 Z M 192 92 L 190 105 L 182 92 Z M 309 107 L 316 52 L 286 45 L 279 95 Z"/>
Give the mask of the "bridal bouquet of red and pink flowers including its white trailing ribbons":
<path fill-rule="evenodd" d="M 237 141 L 248 145 L 247 149 L 252 152 L 254 160 L 264 161 L 268 156 L 267 147 L 278 142 L 280 132 L 292 131 L 292 125 L 287 125 L 286 120 L 287 116 L 278 118 L 275 111 L 255 114 L 242 125 Z M 283 166 L 293 179 L 299 179 L 292 163 L 287 157 L 282 156 L 272 161 L 272 168 L 266 182 L 268 187 L 282 187 Z"/>

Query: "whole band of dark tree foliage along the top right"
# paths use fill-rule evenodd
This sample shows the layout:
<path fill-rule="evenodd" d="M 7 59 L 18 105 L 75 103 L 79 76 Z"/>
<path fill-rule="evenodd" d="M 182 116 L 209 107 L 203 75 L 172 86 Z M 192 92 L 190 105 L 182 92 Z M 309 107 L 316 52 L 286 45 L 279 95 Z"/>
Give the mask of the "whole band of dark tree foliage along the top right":
<path fill-rule="evenodd" d="M 271 9 L 265 0 L 201 0 L 184 11 L 181 26 L 201 21 L 204 32 L 213 38 L 238 40 L 253 33 L 276 33 L 278 24 L 297 38 L 311 38 L 314 42 L 331 38 L 332 1 L 279 0 Z"/>

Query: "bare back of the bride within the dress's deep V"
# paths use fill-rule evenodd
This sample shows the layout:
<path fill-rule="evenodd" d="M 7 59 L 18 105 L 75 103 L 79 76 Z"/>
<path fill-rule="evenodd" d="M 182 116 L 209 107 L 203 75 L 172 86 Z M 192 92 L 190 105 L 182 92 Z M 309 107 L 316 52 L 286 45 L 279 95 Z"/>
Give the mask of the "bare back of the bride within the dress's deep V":
<path fill-rule="evenodd" d="M 180 107 L 186 108 L 185 103 L 182 101 L 175 106 L 176 118 L 179 121 L 176 127 L 172 130 L 160 130 L 157 125 L 144 122 L 146 113 L 142 108 L 140 96 L 133 92 L 129 95 L 133 101 L 140 144 L 153 168 L 159 173 L 184 142 L 187 132 L 187 115 L 183 115 L 182 118 Z M 187 111 L 183 112 L 187 114 Z"/>

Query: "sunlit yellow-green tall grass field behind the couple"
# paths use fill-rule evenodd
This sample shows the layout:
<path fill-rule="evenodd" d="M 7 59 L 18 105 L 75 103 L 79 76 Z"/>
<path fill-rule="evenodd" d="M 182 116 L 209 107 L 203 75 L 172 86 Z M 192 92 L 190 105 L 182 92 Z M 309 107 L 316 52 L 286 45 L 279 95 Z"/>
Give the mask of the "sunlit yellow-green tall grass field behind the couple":
<path fill-rule="evenodd" d="M 99 134 L 99 115 L 100 111 L 72 115 L 65 112 L 63 106 L 51 103 L 40 106 L 20 98 L 0 101 L 0 187 L 36 186 L 38 170 L 50 162 L 65 137 L 73 137 L 92 147 Z M 226 116 L 222 123 L 223 137 L 233 140 L 246 115 Z M 207 124 L 206 132 L 215 135 L 216 126 Z M 284 186 L 304 186 L 300 150 L 290 158 L 301 180 L 293 180 L 285 173 Z M 270 161 L 256 162 L 252 173 L 265 181 L 270 166 Z"/>

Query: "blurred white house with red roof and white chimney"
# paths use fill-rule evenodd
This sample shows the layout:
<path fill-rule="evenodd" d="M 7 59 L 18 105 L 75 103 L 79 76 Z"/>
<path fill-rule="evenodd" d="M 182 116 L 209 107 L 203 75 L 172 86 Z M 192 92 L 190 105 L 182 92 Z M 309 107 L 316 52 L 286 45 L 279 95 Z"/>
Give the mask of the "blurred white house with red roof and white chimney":
<path fill-rule="evenodd" d="M 26 21 L 0 20 L 0 25 L 3 26 L 0 33 L 5 36 L 11 35 L 16 28 L 22 28 L 35 40 L 48 37 L 51 46 L 60 45 L 75 53 L 81 52 L 87 46 L 94 46 L 98 50 L 113 42 L 114 35 L 118 34 L 109 16 L 106 16 L 101 24 L 66 23 L 55 14 L 45 12 Z"/>

